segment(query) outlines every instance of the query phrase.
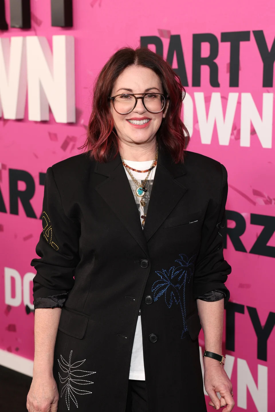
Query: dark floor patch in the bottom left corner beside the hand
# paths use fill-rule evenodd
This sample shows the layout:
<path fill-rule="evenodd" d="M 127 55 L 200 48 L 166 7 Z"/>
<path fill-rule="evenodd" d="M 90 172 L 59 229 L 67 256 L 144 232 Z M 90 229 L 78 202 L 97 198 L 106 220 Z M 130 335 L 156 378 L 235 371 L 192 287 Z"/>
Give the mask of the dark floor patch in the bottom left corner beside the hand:
<path fill-rule="evenodd" d="M 32 378 L 0 365 L 0 411 L 26 412 Z"/>

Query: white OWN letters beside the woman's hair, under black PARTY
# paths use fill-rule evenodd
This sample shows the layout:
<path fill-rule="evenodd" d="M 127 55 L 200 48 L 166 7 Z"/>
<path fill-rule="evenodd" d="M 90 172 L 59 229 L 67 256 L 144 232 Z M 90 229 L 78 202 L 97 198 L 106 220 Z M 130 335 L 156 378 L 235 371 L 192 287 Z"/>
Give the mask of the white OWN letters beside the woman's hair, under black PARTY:
<path fill-rule="evenodd" d="M 201 143 L 204 145 L 211 144 L 216 123 L 219 145 L 229 145 L 237 103 L 240 103 L 240 146 L 250 147 L 252 124 L 262 147 L 271 149 L 274 93 L 263 93 L 262 96 L 261 116 L 251 93 L 241 93 L 239 96 L 239 93 L 230 92 L 226 97 L 221 96 L 220 92 L 212 92 L 207 115 L 206 101 L 209 102 L 209 96 L 204 96 L 204 92 L 194 92 L 197 129 L 200 131 Z M 239 97 L 240 102 L 238 102 Z M 225 115 L 223 115 L 222 98 L 226 99 Z M 190 136 L 192 136 L 193 128 L 196 126 L 193 125 L 194 103 L 188 93 L 186 93 L 183 101 L 183 122 Z"/>

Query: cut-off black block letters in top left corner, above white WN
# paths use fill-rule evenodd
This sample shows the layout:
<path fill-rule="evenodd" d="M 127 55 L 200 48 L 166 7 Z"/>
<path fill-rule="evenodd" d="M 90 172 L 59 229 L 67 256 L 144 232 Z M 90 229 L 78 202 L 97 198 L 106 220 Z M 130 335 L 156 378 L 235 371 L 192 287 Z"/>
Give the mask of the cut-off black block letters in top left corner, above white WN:
<path fill-rule="evenodd" d="M 31 28 L 30 0 L 9 0 L 10 27 Z M 52 26 L 73 27 L 72 0 L 51 0 Z M 0 0 L 0 30 L 8 30 L 5 0 Z"/>

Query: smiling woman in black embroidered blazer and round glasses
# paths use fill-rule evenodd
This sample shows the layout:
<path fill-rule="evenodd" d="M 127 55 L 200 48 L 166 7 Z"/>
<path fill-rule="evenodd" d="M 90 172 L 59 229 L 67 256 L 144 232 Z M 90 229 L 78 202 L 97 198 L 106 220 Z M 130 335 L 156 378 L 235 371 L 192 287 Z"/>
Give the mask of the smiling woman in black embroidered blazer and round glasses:
<path fill-rule="evenodd" d="M 233 409 L 227 173 L 185 150 L 183 92 L 160 56 L 120 49 L 96 81 L 87 151 L 47 169 L 29 412 L 206 411 L 201 324 L 209 405 Z"/>

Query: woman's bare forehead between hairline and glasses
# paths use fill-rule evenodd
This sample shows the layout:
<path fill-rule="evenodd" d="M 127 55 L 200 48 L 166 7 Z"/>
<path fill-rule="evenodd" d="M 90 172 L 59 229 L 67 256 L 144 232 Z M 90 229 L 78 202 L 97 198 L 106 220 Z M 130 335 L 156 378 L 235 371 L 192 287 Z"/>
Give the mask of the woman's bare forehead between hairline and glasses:
<path fill-rule="evenodd" d="M 162 91 L 160 78 L 153 70 L 142 66 L 128 66 L 118 76 L 112 91 L 126 88 L 132 89 L 134 93 L 142 93 L 145 89 L 154 87 Z M 123 90 L 121 92 L 123 93 Z"/>

